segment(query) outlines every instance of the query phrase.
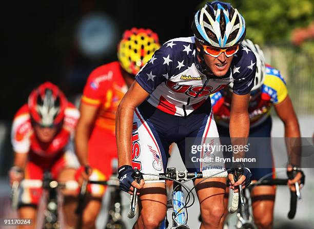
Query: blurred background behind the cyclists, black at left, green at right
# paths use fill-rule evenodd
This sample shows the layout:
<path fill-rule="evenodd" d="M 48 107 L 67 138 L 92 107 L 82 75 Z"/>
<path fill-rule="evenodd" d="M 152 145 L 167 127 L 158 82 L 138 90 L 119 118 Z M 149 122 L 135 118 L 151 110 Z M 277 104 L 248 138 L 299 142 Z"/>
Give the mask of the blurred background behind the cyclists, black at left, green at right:
<path fill-rule="evenodd" d="M 134 0 L 7 3 L 3 20 L 6 71 L 0 77 L 0 201 L 8 199 L 9 194 L 6 176 L 13 158 L 11 120 L 33 88 L 49 80 L 75 102 L 92 69 L 116 60 L 117 42 L 124 30 L 150 28 L 159 34 L 161 44 L 174 37 L 191 36 L 192 18 L 204 3 Z M 230 3 L 246 20 L 246 37 L 262 47 L 268 64 L 281 71 L 302 135 L 311 137 L 314 130 L 314 0 Z M 279 121 L 275 119 L 274 123 Z M 275 127 L 279 130 L 274 136 L 283 136 L 283 127 L 280 124 Z M 313 176 L 311 179 L 307 185 L 313 191 Z M 0 210 L 0 218 L 3 211 Z M 314 224 L 310 217 L 307 220 Z"/>

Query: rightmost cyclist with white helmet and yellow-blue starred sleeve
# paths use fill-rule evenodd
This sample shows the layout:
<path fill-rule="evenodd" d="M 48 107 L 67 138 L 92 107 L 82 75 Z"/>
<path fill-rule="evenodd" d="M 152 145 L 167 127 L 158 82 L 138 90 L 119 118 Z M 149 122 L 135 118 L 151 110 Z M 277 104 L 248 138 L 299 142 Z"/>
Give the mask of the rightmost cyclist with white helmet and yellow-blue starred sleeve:
<path fill-rule="evenodd" d="M 253 174 L 252 180 L 259 180 L 274 171 L 270 144 L 271 107 L 274 107 L 277 115 L 284 123 L 285 137 L 300 138 L 300 129 L 288 95 L 286 82 L 280 72 L 269 65 L 265 66 L 263 51 L 258 45 L 254 45 L 251 40 L 245 39 L 241 45 L 248 48 L 247 51 L 253 52 L 257 57 L 257 68 L 254 86 L 250 92 L 248 111 L 250 117 L 249 137 L 260 137 L 258 139 L 259 143 L 253 139 L 249 140 L 249 142 L 251 141 L 249 150 L 254 152 L 257 158 L 257 164 L 250 169 Z M 241 73 L 242 70 L 233 67 L 234 74 L 235 72 Z M 230 109 L 233 103 L 231 102 L 231 95 L 232 85 L 211 95 L 211 103 L 220 137 L 229 137 Z M 222 141 L 225 141 L 225 139 Z M 291 148 L 287 147 L 287 149 Z M 296 153 L 289 153 L 289 155 L 292 157 L 298 156 Z M 299 158 L 292 160 L 295 160 L 293 167 L 297 166 L 299 168 Z M 291 165 L 289 167 L 292 168 Z M 266 179 L 272 177 L 269 176 Z M 289 181 L 289 184 L 301 181 L 301 177 L 302 172 L 299 172 L 295 179 Z M 276 189 L 274 186 L 257 186 L 252 190 L 253 216 L 259 228 L 272 228 L 275 194 Z"/>

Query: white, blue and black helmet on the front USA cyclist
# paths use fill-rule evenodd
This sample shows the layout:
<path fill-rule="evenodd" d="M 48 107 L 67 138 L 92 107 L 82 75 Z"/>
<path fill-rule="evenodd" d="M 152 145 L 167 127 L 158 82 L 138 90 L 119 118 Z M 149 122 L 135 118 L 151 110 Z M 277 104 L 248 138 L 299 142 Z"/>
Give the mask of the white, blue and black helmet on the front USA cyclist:
<path fill-rule="evenodd" d="M 241 43 L 246 28 L 243 16 L 230 3 L 206 3 L 194 16 L 194 36 L 204 45 L 231 47 Z"/>

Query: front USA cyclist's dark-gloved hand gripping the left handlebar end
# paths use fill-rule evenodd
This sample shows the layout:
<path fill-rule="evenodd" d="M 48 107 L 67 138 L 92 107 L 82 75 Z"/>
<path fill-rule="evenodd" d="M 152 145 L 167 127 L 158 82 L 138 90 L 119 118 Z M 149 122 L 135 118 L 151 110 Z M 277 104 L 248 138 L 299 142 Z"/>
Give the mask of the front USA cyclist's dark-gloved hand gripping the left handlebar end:
<path fill-rule="evenodd" d="M 136 189 L 143 189 L 144 180 L 138 183 L 134 180 L 134 170 L 130 165 L 123 165 L 118 170 L 118 179 L 120 183 L 120 189 L 129 194 L 133 194 L 133 187 Z"/>

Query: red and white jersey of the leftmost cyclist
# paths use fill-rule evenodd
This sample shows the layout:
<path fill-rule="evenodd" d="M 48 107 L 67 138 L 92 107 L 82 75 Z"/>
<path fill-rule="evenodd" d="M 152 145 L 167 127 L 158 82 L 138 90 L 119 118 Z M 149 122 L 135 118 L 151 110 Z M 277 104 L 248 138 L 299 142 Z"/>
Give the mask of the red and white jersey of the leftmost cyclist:
<path fill-rule="evenodd" d="M 33 152 L 47 158 L 54 157 L 64 150 L 69 143 L 79 117 L 80 113 L 78 110 L 74 105 L 68 103 L 68 107 L 65 109 L 65 117 L 61 130 L 51 142 L 43 143 L 37 139 L 34 133 L 28 105 L 25 104 L 17 111 L 13 119 L 11 142 L 14 152 Z"/>

